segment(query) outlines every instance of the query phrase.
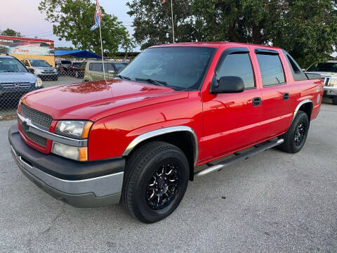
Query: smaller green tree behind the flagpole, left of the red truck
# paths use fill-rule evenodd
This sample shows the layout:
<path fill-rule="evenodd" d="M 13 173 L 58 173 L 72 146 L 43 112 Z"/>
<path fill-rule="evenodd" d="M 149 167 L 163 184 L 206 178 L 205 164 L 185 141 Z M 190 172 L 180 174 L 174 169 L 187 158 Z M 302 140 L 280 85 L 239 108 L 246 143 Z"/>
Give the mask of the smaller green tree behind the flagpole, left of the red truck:
<path fill-rule="evenodd" d="M 114 56 L 119 48 L 131 51 L 134 47 L 126 27 L 117 17 L 102 8 L 102 41 L 104 53 Z M 41 0 L 39 11 L 46 13 L 46 20 L 53 23 L 53 33 L 59 39 L 71 41 L 75 48 L 100 54 L 100 31 L 90 31 L 95 24 L 95 4 L 91 0 Z"/>

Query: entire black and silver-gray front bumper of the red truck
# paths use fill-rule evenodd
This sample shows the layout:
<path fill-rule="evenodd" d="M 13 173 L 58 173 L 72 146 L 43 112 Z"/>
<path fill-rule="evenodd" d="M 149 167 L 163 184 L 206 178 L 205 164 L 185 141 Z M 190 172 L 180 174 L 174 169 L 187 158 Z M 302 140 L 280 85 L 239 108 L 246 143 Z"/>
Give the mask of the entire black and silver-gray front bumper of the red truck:
<path fill-rule="evenodd" d="M 9 129 L 8 139 L 22 173 L 56 199 L 74 207 L 103 207 L 119 202 L 124 158 L 81 163 L 44 155 L 22 141 L 18 126 Z M 106 174 L 107 171 L 112 173 Z"/>

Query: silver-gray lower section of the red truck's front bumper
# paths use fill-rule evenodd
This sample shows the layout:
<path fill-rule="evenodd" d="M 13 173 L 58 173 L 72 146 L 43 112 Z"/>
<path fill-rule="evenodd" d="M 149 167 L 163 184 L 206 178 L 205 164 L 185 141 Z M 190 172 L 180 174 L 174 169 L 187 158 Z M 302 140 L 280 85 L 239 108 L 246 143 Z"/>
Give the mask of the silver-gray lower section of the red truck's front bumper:
<path fill-rule="evenodd" d="M 65 180 L 34 167 L 19 155 L 20 151 L 15 150 L 12 143 L 11 153 L 28 179 L 49 195 L 74 207 L 102 207 L 120 200 L 124 171 L 90 179 Z"/>

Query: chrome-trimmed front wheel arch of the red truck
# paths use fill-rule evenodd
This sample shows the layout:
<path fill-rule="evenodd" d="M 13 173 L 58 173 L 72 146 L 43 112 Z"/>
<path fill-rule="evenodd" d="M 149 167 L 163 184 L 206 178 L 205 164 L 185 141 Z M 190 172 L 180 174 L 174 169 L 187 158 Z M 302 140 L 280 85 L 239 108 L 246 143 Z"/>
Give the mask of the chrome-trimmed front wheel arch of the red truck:
<path fill-rule="evenodd" d="M 137 136 L 128 144 L 123 156 L 130 155 L 140 145 L 144 145 L 150 141 L 164 141 L 176 145 L 183 150 L 190 165 L 190 180 L 193 181 L 194 167 L 197 164 L 199 155 L 199 145 L 197 135 L 190 126 L 170 126 L 140 134 L 140 136 Z"/>

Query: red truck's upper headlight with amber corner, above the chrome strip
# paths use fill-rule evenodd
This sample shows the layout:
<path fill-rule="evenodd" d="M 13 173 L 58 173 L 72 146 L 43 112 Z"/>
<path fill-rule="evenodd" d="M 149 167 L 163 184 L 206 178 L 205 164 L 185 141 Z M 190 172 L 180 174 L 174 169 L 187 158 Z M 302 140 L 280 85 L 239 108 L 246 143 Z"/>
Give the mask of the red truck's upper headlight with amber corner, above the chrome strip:
<path fill-rule="evenodd" d="M 88 138 L 89 130 L 93 122 L 74 120 L 61 120 L 55 128 L 55 134 L 74 138 Z"/>

